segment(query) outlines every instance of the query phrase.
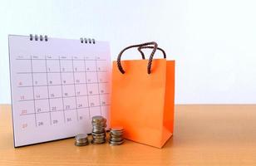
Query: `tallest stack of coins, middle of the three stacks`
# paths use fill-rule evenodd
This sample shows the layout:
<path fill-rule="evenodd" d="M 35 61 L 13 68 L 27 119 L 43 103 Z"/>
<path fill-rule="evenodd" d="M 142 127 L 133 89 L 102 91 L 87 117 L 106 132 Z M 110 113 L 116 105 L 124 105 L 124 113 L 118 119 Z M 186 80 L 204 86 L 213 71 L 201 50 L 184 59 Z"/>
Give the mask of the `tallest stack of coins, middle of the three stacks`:
<path fill-rule="evenodd" d="M 106 119 L 102 116 L 93 116 L 92 124 L 92 144 L 106 143 Z"/>

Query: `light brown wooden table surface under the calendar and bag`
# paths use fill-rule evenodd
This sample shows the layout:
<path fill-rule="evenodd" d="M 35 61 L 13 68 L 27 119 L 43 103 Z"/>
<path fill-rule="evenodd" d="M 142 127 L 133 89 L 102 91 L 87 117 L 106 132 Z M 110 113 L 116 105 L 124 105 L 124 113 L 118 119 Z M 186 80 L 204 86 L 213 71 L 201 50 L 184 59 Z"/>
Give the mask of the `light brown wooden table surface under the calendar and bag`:
<path fill-rule="evenodd" d="M 0 165 L 256 165 L 256 105 L 176 105 L 163 149 L 126 141 L 74 146 L 74 139 L 13 148 L 9 105 L 0 106 Z"/>

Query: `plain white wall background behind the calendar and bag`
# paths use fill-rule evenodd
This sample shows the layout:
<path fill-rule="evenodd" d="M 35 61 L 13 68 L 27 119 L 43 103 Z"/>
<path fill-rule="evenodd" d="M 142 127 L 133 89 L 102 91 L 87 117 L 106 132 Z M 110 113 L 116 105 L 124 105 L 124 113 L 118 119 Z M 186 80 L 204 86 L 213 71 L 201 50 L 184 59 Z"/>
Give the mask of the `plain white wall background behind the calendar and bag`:
<path fill-rule="evenodd" d="M 176 60 L 175 103 L 255 104 L 255 8 L 254 0 L 1 1 L 0 103 L 11 102 L 7 35 L 32 33 L 110 41 L 112 60 L 157 41 Z"/>

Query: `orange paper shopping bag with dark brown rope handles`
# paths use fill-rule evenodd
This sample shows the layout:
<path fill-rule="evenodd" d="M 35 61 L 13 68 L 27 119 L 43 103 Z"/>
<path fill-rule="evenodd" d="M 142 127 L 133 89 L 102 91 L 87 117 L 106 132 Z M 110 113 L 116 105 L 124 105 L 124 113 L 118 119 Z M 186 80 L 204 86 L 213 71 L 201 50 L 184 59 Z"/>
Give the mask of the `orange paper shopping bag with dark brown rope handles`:
<path fill-rule="evenodd" d="M 143 60 L 121 61 L 131 47 L 138 47 Z M 153 48 L 149 60 L 143 48 Z M 164 58 L 153 60 L 157 49 Z M 161 148 L 173 134 L 174 105 L 175 61 L 167 61 L 155 42 L 121 51 L 113 61 L 111 126 L 122 126 L 125 139 Z"/>

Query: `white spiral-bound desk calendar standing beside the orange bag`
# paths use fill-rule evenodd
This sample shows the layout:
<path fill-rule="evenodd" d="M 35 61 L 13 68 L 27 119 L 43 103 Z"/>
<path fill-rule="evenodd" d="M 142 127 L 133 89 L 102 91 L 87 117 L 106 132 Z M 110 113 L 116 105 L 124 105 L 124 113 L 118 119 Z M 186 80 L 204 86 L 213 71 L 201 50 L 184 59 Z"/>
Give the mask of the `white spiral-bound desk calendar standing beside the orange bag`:
<path fill-rule="evenodd" d="M 15 147 L 89 134 L 94 115 L 109 122 L 107 41 L 8 38 Z"/>

